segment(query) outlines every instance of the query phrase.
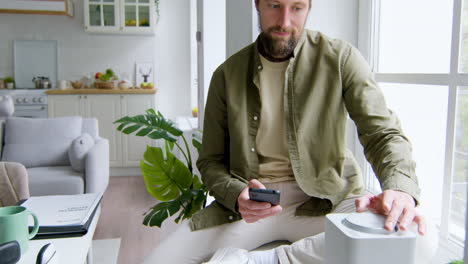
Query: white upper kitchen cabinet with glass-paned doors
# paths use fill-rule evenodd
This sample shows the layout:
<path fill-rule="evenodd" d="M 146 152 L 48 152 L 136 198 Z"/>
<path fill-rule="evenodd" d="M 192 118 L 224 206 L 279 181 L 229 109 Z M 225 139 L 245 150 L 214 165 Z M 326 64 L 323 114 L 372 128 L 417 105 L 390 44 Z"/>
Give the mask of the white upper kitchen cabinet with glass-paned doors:
<path fill-rule="evenodd" d="M 84 0 L 85 31 L 154 34 L 155 0 Z"/>

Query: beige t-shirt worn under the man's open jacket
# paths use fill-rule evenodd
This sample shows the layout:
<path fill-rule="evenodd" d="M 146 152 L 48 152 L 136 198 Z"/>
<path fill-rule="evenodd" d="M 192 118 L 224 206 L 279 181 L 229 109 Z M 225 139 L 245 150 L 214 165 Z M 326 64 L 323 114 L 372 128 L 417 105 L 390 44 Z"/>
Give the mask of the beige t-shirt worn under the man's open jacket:
<path fill-rule="evenodd" d="M 262 109 L 256 145 L 259 180 L 263 183 L 294 180 L 289 161 L 284 119 L 284 75 L 288 61 L 271 62 L 260 56 L 260 100 Z"/>

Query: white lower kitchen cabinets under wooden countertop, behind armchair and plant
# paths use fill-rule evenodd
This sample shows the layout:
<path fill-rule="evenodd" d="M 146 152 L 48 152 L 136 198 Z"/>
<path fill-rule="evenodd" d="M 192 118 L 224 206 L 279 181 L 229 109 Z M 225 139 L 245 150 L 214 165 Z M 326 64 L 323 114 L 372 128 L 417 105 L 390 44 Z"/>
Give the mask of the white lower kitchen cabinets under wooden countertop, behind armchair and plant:
<path fill-rule="evenodd" d="M 112 167 L 138 167 L 147 145 L 155 142 L 145 137 L 124 135 L 113 122 L 123 116 L 134 116 L 154 108 L 154 94 L 79 94 L 48 95 L 49 117 L 95 117 L 99 135 L 109 140 Z"/>

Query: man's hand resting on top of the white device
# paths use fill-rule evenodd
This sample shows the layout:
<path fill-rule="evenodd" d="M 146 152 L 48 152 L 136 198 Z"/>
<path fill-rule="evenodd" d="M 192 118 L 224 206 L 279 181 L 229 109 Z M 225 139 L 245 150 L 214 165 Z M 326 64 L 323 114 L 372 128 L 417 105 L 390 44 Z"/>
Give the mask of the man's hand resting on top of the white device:
<path fill-rule="evenodd" d="M 407 230 L 408 226 L 415 222 L 419 234 L 424 235 L 426 232 L 424 217 L 416 211 L 413 197 L 405 192 L 386 190 L 376 196 L 364 195 L 356 200 L 356 211 L 363 212 L 366 209 L 386 215 L 385 229 L 388 231 L 393 230 L 397 223 L 399 228 Z"/>

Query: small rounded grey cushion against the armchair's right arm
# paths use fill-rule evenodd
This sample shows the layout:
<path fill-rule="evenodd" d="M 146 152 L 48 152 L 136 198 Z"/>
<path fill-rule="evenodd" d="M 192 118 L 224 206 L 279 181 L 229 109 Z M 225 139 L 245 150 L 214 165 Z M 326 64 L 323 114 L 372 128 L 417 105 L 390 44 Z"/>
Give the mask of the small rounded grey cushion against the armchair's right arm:
<path fill-rule="evenodd" d="M 79 172 L 84 171 L 86 153 L 94 146 L 94 139 L 88 134 L 77 137 L 68 148 L 68 158 L 71 167 Z"/>

